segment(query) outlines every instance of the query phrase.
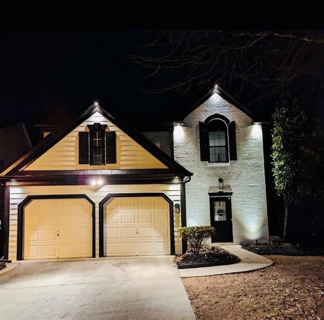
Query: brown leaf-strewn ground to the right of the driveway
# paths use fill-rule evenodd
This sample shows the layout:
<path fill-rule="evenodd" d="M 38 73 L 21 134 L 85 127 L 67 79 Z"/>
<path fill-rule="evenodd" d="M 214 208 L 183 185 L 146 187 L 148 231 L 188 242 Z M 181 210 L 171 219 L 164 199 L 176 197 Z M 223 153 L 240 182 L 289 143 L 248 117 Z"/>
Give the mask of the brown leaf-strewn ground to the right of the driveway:
<path fill-rule="evenodd" d="M 266 256 L 245 272 L 183 278 L 198 320 L 324 319 L 324 257 Z"/>

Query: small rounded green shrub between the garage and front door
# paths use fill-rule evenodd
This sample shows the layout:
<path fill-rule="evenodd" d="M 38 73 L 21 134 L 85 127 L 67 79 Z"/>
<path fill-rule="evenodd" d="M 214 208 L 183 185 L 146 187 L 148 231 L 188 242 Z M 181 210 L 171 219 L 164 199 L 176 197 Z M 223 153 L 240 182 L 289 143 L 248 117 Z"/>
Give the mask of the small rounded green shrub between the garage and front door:
<path fill-rule="evenodd" d="M 199 254 L 207 239 L 216 232 L 211 226 L 181 227 L 179 235 L 187 241 L 194 254 Z"/>

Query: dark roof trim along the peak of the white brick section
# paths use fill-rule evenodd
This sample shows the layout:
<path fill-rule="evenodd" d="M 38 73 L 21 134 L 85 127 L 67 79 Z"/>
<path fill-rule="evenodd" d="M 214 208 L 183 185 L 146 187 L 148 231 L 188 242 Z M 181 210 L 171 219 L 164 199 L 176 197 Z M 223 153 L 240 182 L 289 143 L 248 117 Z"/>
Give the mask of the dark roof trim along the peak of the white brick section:
<path fill-rule="evenodd" d="M 190 114 L 194 109 L 199 107 L 201 104 L 206 102 L 214 93 L 219 94 L 223 99 L 225 99 L 227 102 L 234 105 L 236 108 L 247 114 L 250 118 L 254 119 L 256 116 L 253 114 L 249 108 L 247 108 L 245 105 L 243 105 L 241 102 L 236 100 L 232 95 L 230 95 L 227 91 L 222 89 L 220 86 L 215 86 L 213 89 L 211 89 L 203 98 L 198 100 L 193 106 L 191 106 L 186 113 L 184 114 L 184 118 Z"/>

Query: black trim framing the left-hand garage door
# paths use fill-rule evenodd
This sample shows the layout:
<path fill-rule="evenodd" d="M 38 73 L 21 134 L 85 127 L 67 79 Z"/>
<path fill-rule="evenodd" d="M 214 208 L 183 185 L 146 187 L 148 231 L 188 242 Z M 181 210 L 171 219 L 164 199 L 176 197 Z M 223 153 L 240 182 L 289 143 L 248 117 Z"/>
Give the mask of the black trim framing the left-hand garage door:
<path fill-rule="evenodd" d="M 34 199 L 76 199 L 84 198 L 92 205 L 92 257 L 96 257 L 96 217 L 95 203 L 86 194 L 27 195 L 18 205 L 17 260 L 23 260 L 24 213 L 25 207 Z"/>

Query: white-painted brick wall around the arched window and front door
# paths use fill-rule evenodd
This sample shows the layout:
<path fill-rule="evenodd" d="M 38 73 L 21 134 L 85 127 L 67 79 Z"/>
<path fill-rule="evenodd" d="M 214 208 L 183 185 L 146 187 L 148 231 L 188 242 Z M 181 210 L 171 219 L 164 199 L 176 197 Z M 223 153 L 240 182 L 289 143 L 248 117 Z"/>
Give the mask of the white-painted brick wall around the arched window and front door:
<path fill-rule="evenodd" d="M 237 161 L 210 164 L 200 161 L 199 121 L 215 113 L 236 124 Z M 268 221 L 265 191 L 263 141 L 261 125 L 217 93 L 194 109 L 184 126 L 174 128 L 174 159 L 190 172 L 186 184 L 187 225 L 210 225 L 210 186 L 223 178 L 232 189 L 233 243 L 266 241 Z"/>

